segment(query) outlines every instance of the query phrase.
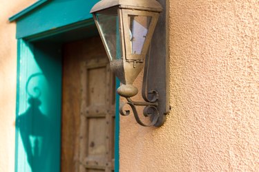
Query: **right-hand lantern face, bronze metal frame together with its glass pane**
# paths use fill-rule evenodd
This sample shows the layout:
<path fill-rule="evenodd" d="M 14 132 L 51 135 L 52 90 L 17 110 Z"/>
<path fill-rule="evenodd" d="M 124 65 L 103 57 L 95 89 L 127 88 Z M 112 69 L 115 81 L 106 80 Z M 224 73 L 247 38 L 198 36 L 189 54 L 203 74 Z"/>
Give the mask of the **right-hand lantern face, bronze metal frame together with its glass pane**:
<path fill-rule="evenodd" d="M 144 59 L 159 12 L 122 9 L 126 59 Z"/>

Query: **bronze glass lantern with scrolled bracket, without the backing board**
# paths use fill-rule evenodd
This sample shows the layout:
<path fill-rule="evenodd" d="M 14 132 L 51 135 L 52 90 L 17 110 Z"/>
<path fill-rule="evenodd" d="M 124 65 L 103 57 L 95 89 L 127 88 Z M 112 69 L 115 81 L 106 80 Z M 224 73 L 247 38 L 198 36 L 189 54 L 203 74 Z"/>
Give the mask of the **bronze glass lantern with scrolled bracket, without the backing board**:
<path fill-rule="evenodd" d="M 155 0 L 102 0 L 90 12 L 104 43 L 111 69 L 122 83 L 117 93 L 128 100 L 126 104 L 131 106 L 140 125 L 161 126 L 165 113 L 161 114 L 159 110 L 160 90 L 145 94 L 144 88 L 142 95 L 145 102 L 134 102 L 131 97 L 138 92 L 133 82 L 142 71 L 144 62 L 148 63 L 148 47 L 162 6 Z M 145 68 L 148 68 L 148 64 Z M 148 86 L 144 83 L 143 87 Z M 135 106 L 144 106 L 144 116 L 150 117 L 150 124 L 146 125 L 140 120 Z M 129 111 L 124 111 L 123 107 L 120 106 L 120 113 L 128 115 Z"/>

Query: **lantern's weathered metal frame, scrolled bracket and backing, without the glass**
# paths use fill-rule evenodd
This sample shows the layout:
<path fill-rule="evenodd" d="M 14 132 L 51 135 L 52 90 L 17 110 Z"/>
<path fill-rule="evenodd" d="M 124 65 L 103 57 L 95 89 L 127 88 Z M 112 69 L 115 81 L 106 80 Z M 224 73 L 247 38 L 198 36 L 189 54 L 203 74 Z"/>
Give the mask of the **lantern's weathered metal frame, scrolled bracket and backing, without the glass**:
<path fill-rule="evenodd" d="M 164 7 L 166 7 L 166 2 L 161 1 Z M 132 4 L 126 4 L 131 2 Z M 139 3 L 141 6 L 136 6 L 134 3 Z M 123 4 L 125 3 L 125 4 Z M 154 8 L 150 6 L 148 3 L 155 4 Z M 152 5 L 151 4 L 151 5 Z M 100 7 L 104 6 L 104 8 Z M 155 0 L 133 0 L 133 1 L 124 1 L 124 0 L 111 0 L 110 3 L 108 0 L 102 0 L 97 5 L 95 5 L 91 12 L 95 13 L 98 10 L 105 10 L 107 8 L 113 8 L 117 6 L 118 8 L 118 17 L 119 17 L 119 29 L 121 36 L 121 45 L 122 45 L 122 63 L 117 63 L 117 70 L 124 69 L 125 80 L 122 83 L 126 83 L 126 85 L 122 85 L 124 87 L 119 87 L 117 92 L 124 96 L 127 100 L 126 103 L 123 103 L 119 107 L 119 112 L 123 116 L 128 116 L 130 114 L 129 110 L 124 111 L 124 106 L 129 105 L 133 110 L 133 115 L 135 116 L 136 121 L 144 126 L 144 127 L 160 127 L 164 124 L 166 119 L 166 114 L 169 113 L 169 87 L 167 83 L 167 74 L 168 74 L 168 41 L 166 39 L 166 35 L 168 34 L 166 29 L 166 12 L 162 15 L 159 14 L 162 8 L 157 6 L 157 1 Z M 142 11 L 140 11 L 142 10 Z M 95 17 L 95 14 L 93 14 Z M 142 47 L 142 52 L 139 55 L 131 53 L 131 42 L 129 39 L 129 27 L 128 27 L 128 16 L 129 15 L 141 15 L 146 17 L 152 17 L 150 26 L 148 28 L 148 34 L 146 36 L 146 40 L 144 42 L 144 46 Z M 160 17 L 160 21 L 158 21 L 158 26 L 155 29 L 155 25 L 157 23 L 158 17 Z M 96 22 L 96 17 L 95 17 Z M 99 26 L 97 25 L 99 29 Z M 100 32 L 100 29 L 99 29 Z M 154 33 L 153 38 L 155 41 L 151 43 L 152 34 Z M 100 32 L 102 34 L 102 32 Z M 160 36 L 162 34 L 162 36 Z M 102 36 L 102 39 L 104 37 Z M 162 39 L 162 40 L 161 40 Z M 162 41 L 162 43 L 160 42 Z M 105 40 L 103 40 L 105 44 Z M 151 45 L 149 46 L 149 44 Z M 165 45 L 164 45 L 164 44 Z M 108 46 L 105 46 L 108 47 Z M 146 55 L 149 47 L 149 54 Z M 106 50 L 108 52 L 108 50 Z M 144 77 L 143 77 L 143 85 L 142 85 L 142 97 L 144 102 L 135 102 L 131 100 L 131 96 L 137 94 L 136 89 L 133 88 L 132 83 L 135 80 L 131 79 L 131 76 L 136 76 L 142 69 L 142 63 L 145 62 L 144 67 Z M 114 62 L 113 62 L 114 63 Z M 131 66 L 131 63 L 133 64 Z M 118 68 L 119 65 L 123 65 L 122 68 Z M 119 71 L 120 72 L 120 71 Z M 119 73 L 115 71 L 115 73 Z M 120 72 L 122 73 L 122 72 Z M 126 76 L 127 75 L 127 76 Z M 127 80 L 127 78 L 129 78 Z M 124 93 L 125 92 L 125 93 Z M 146 124 L 142 122 L 136 106 L 144 107 L 143 115 L 144 117 L 149 117 L 151 122 Z"/>

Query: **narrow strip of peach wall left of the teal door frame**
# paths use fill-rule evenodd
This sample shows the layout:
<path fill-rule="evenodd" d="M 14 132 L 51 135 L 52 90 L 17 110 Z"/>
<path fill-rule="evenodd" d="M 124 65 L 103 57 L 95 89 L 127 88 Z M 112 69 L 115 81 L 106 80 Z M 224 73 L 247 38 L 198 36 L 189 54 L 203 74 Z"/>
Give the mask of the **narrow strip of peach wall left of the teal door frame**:
<path fill-rule="evenodd" d="M 0 172 L 15 171 L 17 41 L 8 18 L 36 0 L 0 0 Z"/>

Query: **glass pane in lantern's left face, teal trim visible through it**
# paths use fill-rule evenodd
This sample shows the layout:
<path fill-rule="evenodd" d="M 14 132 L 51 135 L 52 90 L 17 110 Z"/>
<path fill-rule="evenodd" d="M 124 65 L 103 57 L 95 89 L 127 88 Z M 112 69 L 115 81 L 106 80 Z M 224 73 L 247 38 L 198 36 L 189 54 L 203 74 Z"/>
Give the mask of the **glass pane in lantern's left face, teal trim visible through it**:
<path fill-rule="evenodd" d="M 96 18 L 110 61 L 122 58 L 122 45 L 119 34 L 119 17 L 117 12 L 97 13 Z"/>

